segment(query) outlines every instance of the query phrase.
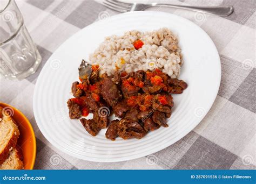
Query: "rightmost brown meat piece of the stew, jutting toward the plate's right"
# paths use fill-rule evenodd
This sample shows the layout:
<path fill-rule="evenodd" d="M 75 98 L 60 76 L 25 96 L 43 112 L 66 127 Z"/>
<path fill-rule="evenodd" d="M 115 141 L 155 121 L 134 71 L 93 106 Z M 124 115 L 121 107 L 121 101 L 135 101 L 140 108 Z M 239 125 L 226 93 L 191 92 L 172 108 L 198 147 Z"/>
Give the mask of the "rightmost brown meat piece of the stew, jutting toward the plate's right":
<path fill-rule="evenodd" d="M 187 83 L 183 80 L 169 79 L 168 81 L 168 91 L 173 94 L 183 93 L 183 90 L 187 88 Z"/>

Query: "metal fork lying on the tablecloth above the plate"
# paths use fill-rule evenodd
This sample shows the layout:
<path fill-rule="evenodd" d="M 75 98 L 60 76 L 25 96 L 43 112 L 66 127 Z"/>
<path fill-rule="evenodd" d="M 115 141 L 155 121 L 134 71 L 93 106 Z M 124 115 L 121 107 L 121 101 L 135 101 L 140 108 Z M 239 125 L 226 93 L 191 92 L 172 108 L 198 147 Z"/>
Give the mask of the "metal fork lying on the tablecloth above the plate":
<path fill-rule="evenodd" d="M 218 16 L 229 16 L 233 12 L 233 6 L 186 6 L 186 5 L 161 4 L 161 3 L 142 4 L 142 3 L 125 3 L 125 2 L 114 1 L 114 0 L 105 0 L 103 4 L 104 6 L 106 6 L 111 10 L 118 11 L 121 13 L 128 12 L 128 11 L 145 10 L 147 8 L 151 8 L 155 6 L 179 8 L 184 10 L 208 13 L 211 15 L 218 15 Z"/>

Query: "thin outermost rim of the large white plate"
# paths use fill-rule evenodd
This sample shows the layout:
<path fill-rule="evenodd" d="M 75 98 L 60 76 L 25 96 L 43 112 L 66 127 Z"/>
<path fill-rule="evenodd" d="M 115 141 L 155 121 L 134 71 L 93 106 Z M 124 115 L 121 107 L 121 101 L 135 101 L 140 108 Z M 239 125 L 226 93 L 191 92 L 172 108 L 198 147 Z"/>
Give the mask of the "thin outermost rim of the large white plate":
<path fill-rule="evenodd" d="M 133 11 L 133 12 L 126 12 L 126 13 L 121 13 L 121 14 L 118 14 L 118 15 L 114 15 L 114 16 L 111 16 L 110 18 L 111 19 L 114 19 L 116 17 L 119 17 L 119 16 L 123 16 L 123 15 L 130 15 L 130 14 L 134 14 L 134 13 L 149 13 L 149 12 L 152 12 L 152 13 L 159 13 L 159 14 L 162 14 L 162 15 L 165 15 L 165 16 L 173 16 L 174 18 L 177 18 L 177 19 L 182 19 L 183 21 L 187 22 L 187 23 L 190 23 L 192 24 L 193 26 L 196 26 L 200 31 L 201 33 L 204 33 L 206 37 L 208 37 L 208 40 L 211 42 L 211 44 L 213 45 L 213 48 L 215 49 L 215 52 L 218 54 L 218 50 L 215 46 L 215 44 L 213 43 L 212 39 L 210 38 L 210 36 L 208 36 L 208 34 L 203 30 L 201 29 L 200 26 L 198 26 L 197 24 L 191 22 L 191 20 L 188 20 L 184 17 L 180 17 L 178 15 L 174 15 L 174 14 L 171 14 L 171 13 L 167 13 L 167 12 L 158 12 L 158 11 Z M 64 43 L 62 43 L 57 49 L 55 52 L 57 52 L 63 45 L 65 45 L 65 43 L 72 39 L 76 34 L 79 34 L 80 32 L 82 32 L 84 29 L 86 29 L 87 27 L 90 27 L 92 25 L 95 25 L 95 24 L 98 24 L 99 21 L 95 22 L 95 23 L 92 23 L 88 26 L 85 26 L 83 29 L 77 31 L 75 34 L 73 34 L 71 37 L 69 37 L 68 39 L 66 39 L 64 41 Z M 54 53 L 55 53 L 54 52 Z M 45 66 L 50 62 L 50 60 L 52 59 L 52 56 L 54 55 L 54 53 L 52 53 L 52 55 L 50 56 L 50 58 L 46 61 L 45 63 Z M 158 146 L 157 149 L 154 149 L 152 151 L 149 151 L 147 152 L 146 154 L 143 152 L 143 153 L 140 153 L 140 154 L 137 154 L 136 156 L 131 156 L 132 158 L 130 157 L 119 157 L 119 158 L 91 158 L 91 157 L 86 157 L 85 156 L 80 156 L 78 154 L 74 154 L 73 152 L 71 152 L 70 150 L 67 150 L 67 149 L 63 149 L 62 146 L 59 146 L 58 144 L 55 143 L 55 140 L 53 140 L 51 137 L 48 137 L 48 136 L 45 136 L 47 135 L 44 131 L 44 129 L 42 129 L 42 126 L 40 123 L 37 123 L 38 125 L 38 128 L 39 130 L 42 132 L 42 134 L 44 135 L 44 137 L 55 147 L 57 147 L 60 151 L 63 151 L 69 155 L 71 155 L 72 157 L 75 157 L 75 158 L 79 158 L 79 159 L 82 159 L 82 160 L 87 160 L 87 161 L 93 161 L 93 162 L 119 162 L 119 161 L 127 161 L 127 160 L 133 160 L 133 159 L 137 159 L 137 158 L 141 158 L 141 157 L 145 157 L 146 155 L 150 155 L 150 154 L 153 154 L 153 153 L 156 153 L 160 150 L 163 150 L 164 148 L 168 147 L 168 146 L 171 146 L 173 144 L 175 144 L 178 140 L 182 139 L 183 137 L 185 137 L 189 132 L 191 132 L 194 128 L 196 128 L 196 126 L 202 121 L 202 119 L 206 116 L 207 112 L 211 109 L 214 101 L 215 101 L 215 98 L 217 97 L 217 94 L 218 94 L 218 91 L 219 91 L 219 87 L 220 87 L 220 80 L 221 80 L 221 65 L 220 65 L 220 58 L 219 58 L 219 54 L 218 54 L 218 61 L 216 61 L 219 63 L 219 75 L 217 76 L 217 86 L 216 86 L 216 90 L 214 91 L 214 95 L 212 96 L 215 96 L 214 98 L 212 98 L 211 102 L 209 102 L 208 104 L 208 108 L 205 109 L 205 114 L 204 116 L 201 116 L 198 120 L 198 123 L 194 123 L 193 126 L 190 126 L 190 129 L 188 130 L 185 130 L 183 133 L 181 133 L 181 135 L 177 136 L 176 138 L 174 138 L 173 142 L 171 144 L 169 143 L 166 143 L 166 144 L 162 144 L 161 146 Z M 37 88 L 39 86 L 38 84 L 38 81 L 39 79 L 41 79 L 41 76 L 43 75 L 43 70 L 45 69 L 45 67 L 42 68 L 41 72 L 39 73 L 38 75 L 38 78 L 37 78 L 37 82 L 36 82 L 36 85 L 35 85 L 35 90 L 34 90 L 34 95 L 33 95 L 33 112 L 34 112 L 34 115 L 35 115 L 35 119 L 36 119 L 36 122 L 39 122 L 39 118 L 38 118 L 38 114 L 37 114 L 37 111 L 35 111 L 36 109 L 36 95 L 37 94 Z"/>

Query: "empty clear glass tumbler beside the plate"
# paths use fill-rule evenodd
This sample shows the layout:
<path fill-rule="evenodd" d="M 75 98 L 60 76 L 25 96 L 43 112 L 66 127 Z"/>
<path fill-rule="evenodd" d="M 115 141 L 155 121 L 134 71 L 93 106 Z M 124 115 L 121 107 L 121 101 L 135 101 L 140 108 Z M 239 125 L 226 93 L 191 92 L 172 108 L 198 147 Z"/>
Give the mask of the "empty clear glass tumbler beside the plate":
<path fill-rule="evenodd" d="M 17 4 L 6 1 L 0 10 L 0 74 L 8 79 L 24 79 L 36 72 L 41 60 Z"/>

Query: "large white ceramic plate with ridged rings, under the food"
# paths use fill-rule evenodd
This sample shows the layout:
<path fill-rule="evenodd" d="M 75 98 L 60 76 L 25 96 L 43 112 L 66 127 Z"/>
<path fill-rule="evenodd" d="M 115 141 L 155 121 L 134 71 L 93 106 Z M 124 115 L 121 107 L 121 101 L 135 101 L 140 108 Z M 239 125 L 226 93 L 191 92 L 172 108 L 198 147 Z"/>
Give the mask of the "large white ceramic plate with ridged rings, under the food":
<path fill-rule="evenodd" d="M 179 79 L 188 83 L 183 94 L 173 95 L 169 128 L 150 132 L 142 139 L 111 141 L 105 138 L 106 130 L 92 137 L 78 120 L 69 119 L 66 101 L 71 97 L 72 82 L 78 80 L 81 60 L 87 60 L 106 36 L 121 35 L 130 30 L 152 31 L 160 27 L 168 27 L 179 38 L 184 56 Z M 193 130 L 210 110 L 220 78 L 218 51 L 210 37 L 196 24 L 164 12 L 123 13 L 85 27 L 52 54 L 38 77 L 33 110 L 46 139 L 73 157 L 99 162 L 136 159 L 170 146 Z"/>

